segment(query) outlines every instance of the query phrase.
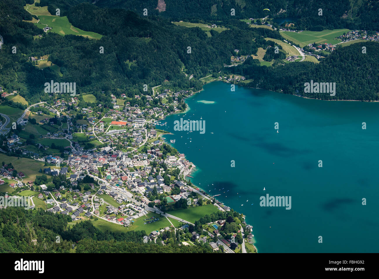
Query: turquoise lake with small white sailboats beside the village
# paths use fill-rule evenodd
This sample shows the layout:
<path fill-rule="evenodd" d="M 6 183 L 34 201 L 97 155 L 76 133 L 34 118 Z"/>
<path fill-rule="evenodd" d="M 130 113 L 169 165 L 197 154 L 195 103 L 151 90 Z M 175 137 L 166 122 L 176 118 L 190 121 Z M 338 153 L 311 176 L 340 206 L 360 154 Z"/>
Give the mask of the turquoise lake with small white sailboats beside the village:
<path fill-rule="evenodd" d="M 223 82 L 186 102 L 186 116 L 166 118 L 166 141 L 196 165 L 191 182 L 246 215 L 258 252 L 379 251 L 379 103 L 231 92 Z M 202 118 L 205 133 L 174 131 L 181 117 Z M 291 196 L 291 209 L 261 207 L 266 194 Z"/>

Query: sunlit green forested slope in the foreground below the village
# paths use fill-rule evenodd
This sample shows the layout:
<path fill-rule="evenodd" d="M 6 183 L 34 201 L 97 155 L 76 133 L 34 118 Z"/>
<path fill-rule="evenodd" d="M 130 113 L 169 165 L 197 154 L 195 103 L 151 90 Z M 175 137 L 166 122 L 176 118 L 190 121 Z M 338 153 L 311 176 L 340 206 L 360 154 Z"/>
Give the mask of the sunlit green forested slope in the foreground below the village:
<path fill-rule="evenodd" d="M 0 252 L 68 253 L 73 243 L 77 246 L 76 252 L 79 253 L 213 252 L 209 245 L 162 246 L 152 242 L 143 243 L 143 237 L 146 235 L 144 230 L 126 233 L 102 232 L 94 227 L 91 221 L 82 221 L 72 227 L 68 227 L 68 221 L 71 221 L 69 215 L 54 214 L 44 210 L 25 210 L 23 207 L 2 208 Z"/>

